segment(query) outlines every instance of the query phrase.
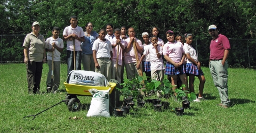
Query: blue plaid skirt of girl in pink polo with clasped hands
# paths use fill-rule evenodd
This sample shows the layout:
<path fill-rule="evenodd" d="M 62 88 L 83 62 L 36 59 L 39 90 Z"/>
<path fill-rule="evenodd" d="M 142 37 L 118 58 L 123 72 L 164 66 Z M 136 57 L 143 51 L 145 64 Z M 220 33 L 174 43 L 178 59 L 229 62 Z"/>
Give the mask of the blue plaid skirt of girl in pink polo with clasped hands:
<path fill-rule="evenodd" d="M 186 73 L 184 64 L 180 65 L 179 68 L 175 68 L 173 64 L 167 62 L 165 65 L 165 75 L 178 75 Z"/>

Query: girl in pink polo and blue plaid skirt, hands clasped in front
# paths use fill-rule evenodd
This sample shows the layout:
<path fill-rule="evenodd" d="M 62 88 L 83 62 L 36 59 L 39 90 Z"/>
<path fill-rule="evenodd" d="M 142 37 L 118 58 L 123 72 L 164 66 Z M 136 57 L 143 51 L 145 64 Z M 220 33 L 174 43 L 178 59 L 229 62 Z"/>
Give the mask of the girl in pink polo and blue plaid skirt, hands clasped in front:
<path fill-rule="evenodd" d="M 182 84 L 186 87 L 183 88 L 188 90 L 188 81 L 185 71 L 185 65 L 183 64 L 183 60 L 185 59 L 185 52 L 183 50 L 183 45 L 180 41 L 176 41 L 174 39 L 173 31 L 169 30 L 166 32 L 166 38 L 168 42 L 164 45 L 163 55 L 165 60 L 167 61 L 165 65 L 165 74 L 168 77 L 171 77 L 172 89 L 177 88 L 177 78 L 179 76 Z M 174 93 L 176 96 L 177 94 Z"/>

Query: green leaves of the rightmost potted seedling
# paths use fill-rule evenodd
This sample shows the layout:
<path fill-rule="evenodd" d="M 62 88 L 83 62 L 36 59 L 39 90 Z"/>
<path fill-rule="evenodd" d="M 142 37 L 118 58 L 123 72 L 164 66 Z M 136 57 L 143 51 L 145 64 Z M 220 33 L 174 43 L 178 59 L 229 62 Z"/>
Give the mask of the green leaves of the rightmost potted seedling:
<path fill-rule="evenodd" d="M 185 85 L 181 85 L 180 88 L 174 89 L 174 92 L 177 93 L 176 98 L 178 101 L 184 101 L 185 97 L 187 98 L 187 101 L 190 102 L 196 99 L 196 94 L 194 92 L 190 93 L 188 90 L 182 90 L 182 88 L 185 88 Z"/>

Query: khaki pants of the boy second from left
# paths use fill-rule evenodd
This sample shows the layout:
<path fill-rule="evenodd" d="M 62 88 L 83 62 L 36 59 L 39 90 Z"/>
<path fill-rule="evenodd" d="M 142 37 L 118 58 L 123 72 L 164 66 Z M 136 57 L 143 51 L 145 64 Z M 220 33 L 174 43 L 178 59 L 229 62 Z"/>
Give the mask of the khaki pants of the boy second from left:
<path fill-rule="evenodd" d="M 49 66 L 49 71 L 46 79 L 46 86 L 51 87 L 52 79 L 52 60 L 48 60 L 47 64 Z M 60 85 L 60 61 L 53 61 L 53 92 L 58 90 Z"/>

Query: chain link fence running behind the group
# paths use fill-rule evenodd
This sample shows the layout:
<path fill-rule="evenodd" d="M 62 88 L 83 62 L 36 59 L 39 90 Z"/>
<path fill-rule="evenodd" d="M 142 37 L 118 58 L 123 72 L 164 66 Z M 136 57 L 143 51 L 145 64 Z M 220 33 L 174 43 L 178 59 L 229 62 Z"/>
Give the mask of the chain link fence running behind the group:
<path fill-rule="evenodd" d="M 49 36 L 43 35 L 46 38 Z M 61 37 L 62 35 L 60 35 Z M 0 63 L 22 63 L 23 55 L 23 41 L 26 35 L 0 35 Z M 137 38 L 142 40 L 141 35 Z M 166 43 L 165 35 L 160 38 Z M 143 41 L 143 40 L 142 40 Z M 198 60 L 202 66 L 208 66 L 210 56 L 210 41 L 207 39 L 194 39 L 192 46 L 196 49 Z M 231 50 L 228 56 L 229 67 L 231 68 L 252 68 L 256 69 L 256 39 L 232 39 L 229 38 Z M 64 43 L 66 46 L 66 42 Z M 61 62 L 66 62 L 66 47 L 64 47 L 61 54 Z"/>

